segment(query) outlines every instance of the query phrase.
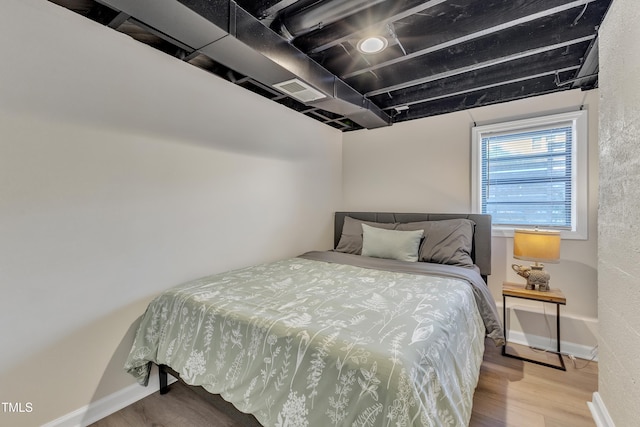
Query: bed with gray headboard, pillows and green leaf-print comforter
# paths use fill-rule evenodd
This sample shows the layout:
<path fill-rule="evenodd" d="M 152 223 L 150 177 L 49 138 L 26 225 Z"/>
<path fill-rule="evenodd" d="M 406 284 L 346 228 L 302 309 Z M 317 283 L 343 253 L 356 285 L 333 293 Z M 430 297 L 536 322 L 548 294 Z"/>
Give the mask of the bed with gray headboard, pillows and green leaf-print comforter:
<path fill-rule="evenodd" d="M 337 212 L 334 249 L 159 295 L 125 370 L 151 364 L 264 426 L 463 426 L 485 337 L 491 218 Z"/>

